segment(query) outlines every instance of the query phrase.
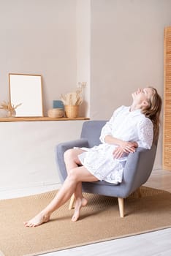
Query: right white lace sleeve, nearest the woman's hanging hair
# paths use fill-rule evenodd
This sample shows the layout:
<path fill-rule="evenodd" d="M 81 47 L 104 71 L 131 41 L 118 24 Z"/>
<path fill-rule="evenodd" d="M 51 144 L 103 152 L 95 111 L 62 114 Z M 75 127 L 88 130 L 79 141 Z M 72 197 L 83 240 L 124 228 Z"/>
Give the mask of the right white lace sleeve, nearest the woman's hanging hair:
<path fill-rule="evenodd" d="M 138 146 L 150 149 L 153 143 L 153 123 L 149 118 L 140 121 L 138 127 Z"/>

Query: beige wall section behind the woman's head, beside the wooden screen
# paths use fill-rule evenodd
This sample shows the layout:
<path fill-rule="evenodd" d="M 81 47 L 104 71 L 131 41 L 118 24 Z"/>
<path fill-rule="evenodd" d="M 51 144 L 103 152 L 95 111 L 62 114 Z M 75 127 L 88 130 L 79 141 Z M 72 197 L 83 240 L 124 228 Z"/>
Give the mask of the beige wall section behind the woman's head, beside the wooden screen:
<path fill-rule="evenodd" d="M 129 105 L 138 87 L 153 85 L 162 96 L 170 10 L 170 0 L 91 1 L 91 118 Z"/>

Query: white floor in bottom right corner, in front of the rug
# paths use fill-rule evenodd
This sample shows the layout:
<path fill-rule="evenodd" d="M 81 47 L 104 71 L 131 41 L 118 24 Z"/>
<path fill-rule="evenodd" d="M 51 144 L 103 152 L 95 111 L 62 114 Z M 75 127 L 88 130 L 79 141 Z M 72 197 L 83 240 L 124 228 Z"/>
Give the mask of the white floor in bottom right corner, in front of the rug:
<path fill-rule="evenodd" d="M 80 246 L 47 254 L 48 256 L 170 256 L 171 228 L 129 238 L 120 238 L 104 243 Z M 46 256 L 47 256 L 46 255 Z"/>

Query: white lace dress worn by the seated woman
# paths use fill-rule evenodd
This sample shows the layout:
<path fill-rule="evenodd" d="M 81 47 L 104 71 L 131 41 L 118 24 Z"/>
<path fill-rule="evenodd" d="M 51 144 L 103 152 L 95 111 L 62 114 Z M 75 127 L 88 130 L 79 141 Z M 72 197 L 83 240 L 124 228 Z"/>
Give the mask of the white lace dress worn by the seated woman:
<path fill-rule="evenodd" d="M 82 165 L 100 181 L 107 181 L 113 184 L 121 183 L 123 167 L 128 154 L 120 159 L 113 157 L 113 151 L 117 145 L 104 142 L 106 135 L 115 138 L 136 141 L 142 148 L 151 148 L 153 142 L 153 124 L 140 110 L 129 111 L 130 107 L 121 106 L 114 111 L 100 135 L 102 144 L 93 148 L 83 148 L 85 152 L 78 157 Z M 132 154 L 132 153 L 131 153 Z"/>

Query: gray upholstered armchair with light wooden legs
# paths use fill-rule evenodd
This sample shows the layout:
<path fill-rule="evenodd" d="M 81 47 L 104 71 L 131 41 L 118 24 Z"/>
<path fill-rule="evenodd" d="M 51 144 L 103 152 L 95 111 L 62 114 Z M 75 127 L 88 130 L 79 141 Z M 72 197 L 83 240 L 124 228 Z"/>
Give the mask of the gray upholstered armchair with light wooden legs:
<path fill-rule="evenodd" d="M 60 143 L 56 146 L 56 162 L 59 167 L 59 177 L 63 183 L 67 173 L 64 163 L 64 152 L 73 147 L 98 146 L 101 129 L 106 121 L 85 121 L 79 140 Z M 136 189 L 148 180 L 153 170 L 153 162 L 156 157 L 156 144 L 151 149 L 137 148 L 134 154 L 129 154 L 123 170 L 123 181 L 115 185 L 106 181 L 83 182 L 83 192 L 118 197 L 120 216 L 123 217 L 123 198 L 128 197 Z M 72 206 L 70 206 L 71 208 Z"/>

